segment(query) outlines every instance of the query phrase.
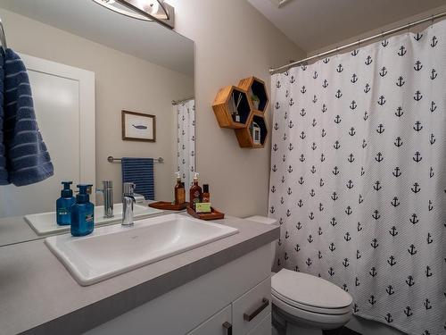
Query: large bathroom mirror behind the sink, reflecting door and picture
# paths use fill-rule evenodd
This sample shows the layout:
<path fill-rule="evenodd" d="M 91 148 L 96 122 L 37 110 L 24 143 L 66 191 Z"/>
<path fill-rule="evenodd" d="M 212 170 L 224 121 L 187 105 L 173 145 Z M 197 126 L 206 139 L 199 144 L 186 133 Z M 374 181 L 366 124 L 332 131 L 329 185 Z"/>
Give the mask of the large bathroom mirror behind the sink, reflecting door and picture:
<path fill-rule="evenodd" d="M 78 183 L 93 184 L 97 206 L 103 193 L 96 189 L 112 180 L 119 204 L 122 157 L 153 158 L 145 206 L 173 200 L 177 171 L 187 188 L 196 157 L 192 40 L 93 0 L 0 0 L 0 18 L 7 46 L 27 66 L 54 164 L 47 180 L 0 186 L 0 246 L 48 236 L 24 217 L 54 212 L 64 180 L 75 191 Z M 126 120 L 123 111 L 130 112 Z"/>

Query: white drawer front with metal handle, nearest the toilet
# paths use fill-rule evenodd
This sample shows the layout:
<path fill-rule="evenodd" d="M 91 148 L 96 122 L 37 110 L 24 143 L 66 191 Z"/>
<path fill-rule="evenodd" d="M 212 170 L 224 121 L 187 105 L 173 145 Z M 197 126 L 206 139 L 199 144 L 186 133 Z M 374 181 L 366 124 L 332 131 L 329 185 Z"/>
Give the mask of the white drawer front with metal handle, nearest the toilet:
<path fill-rule="evenodd" d="M 232 304 L 234 335 L 244 335 L 271 313 L 271 278 L 236 299 Z"/>

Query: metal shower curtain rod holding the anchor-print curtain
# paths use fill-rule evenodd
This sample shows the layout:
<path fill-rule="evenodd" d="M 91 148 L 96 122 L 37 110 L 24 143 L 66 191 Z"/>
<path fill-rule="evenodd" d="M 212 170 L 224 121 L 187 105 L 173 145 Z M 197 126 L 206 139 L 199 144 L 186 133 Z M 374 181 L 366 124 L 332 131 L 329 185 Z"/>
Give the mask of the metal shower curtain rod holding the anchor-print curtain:
<path fill-rule="evenodd" d="M 356 42 L 352 42 L 352 43 L 346 44 L 344 46 L 336 47 L 335 49 L 328 50 L 328 51 L 326 51 L 326 52 L 324 52 L 322 54 L 315 54 L 315 55 L 313 55 L 311 57 L 307 57 L 307 58 L 301 59 L 300 61 L 279 66 L 276 69 L 269 68 L 269 73 L 270 74 L 275 74 L 275 73 L 278 73 L 280 71 L 285 71 L 285 70 L 288 70 L 288 69 L 292 68 L 293 66 L 301 65 L 303 63 L 307 63 L 307 62 L 312 61 L 314 59 L 317 59 L 319 57 L 324 57 L 324 56 L 326 56 L 328 54 L 338 53 L 339 51 L 342 51 L 344 49 L 348 49 L 351 46 L 359 46 L 362 43 L 366 43 L 366 42 L 371 41 L 371 40 L 376 39 L 376 38 L 384 38 L 384 37 L 386 37 L 388 35 L 392 35 L 392 34 L 394 34 L 396 32 L 399 32 L 399 31 L 402 31 L 402 30 L 405 30 L 405 29 L 410 29 L 411 27 L 417 26 L 418 24 L 425 23 L 427 21 L 433 21 L 434 22 L 434 20 L 440 19 L 440 18 L 442 18 L 444 16 L 446 16 L 446 12 L 438 13 L 438 14 L 432 15 L 432 16 L 430 16 L 428 18 L 425 18 L 425 19 L 422 19 L 422 20 L 409 22 L 408 24 L 406 24 L 404 26 L 401 26 L 401 27 L 398 27 L 398 28 L 394 28 L 394 29 L 390 29 L 390 30 L 387 30 L 387 31 L 383 31 L 381 34 L 376 34 L 376 35 L 371 36 L 369 38 L 359 39 Z"/>

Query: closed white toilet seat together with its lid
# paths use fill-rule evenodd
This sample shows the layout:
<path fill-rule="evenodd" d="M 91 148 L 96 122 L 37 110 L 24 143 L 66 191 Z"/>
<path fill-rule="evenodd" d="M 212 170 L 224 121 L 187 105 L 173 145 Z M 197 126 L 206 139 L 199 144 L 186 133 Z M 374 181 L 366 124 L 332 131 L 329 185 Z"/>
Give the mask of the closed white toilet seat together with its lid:
<path fill-rule="evenodd" d="M 277 305 L 310 314 L 351 314 L 352 298 L 330 281 L 282 269 L 271 278 L 271 293 Z"/>

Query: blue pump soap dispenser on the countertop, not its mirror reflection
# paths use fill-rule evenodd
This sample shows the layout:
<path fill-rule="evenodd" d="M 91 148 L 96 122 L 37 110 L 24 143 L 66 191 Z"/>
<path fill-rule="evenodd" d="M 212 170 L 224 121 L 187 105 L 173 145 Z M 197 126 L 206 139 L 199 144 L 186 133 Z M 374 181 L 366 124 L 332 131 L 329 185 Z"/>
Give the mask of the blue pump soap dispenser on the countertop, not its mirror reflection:
<path fill-rule="evenodd" d="M 90 203 L 88 188 L 93 185 L 78 185 L 76 204 L 71 206 L 71 235 L 85 236 L 95 229 L 95 205 Z"/>

